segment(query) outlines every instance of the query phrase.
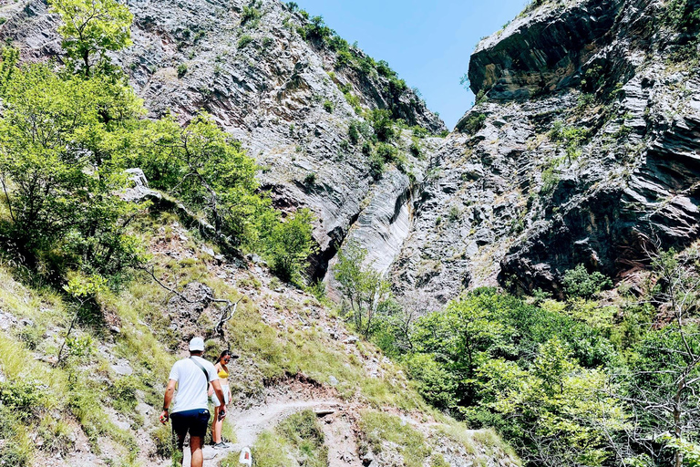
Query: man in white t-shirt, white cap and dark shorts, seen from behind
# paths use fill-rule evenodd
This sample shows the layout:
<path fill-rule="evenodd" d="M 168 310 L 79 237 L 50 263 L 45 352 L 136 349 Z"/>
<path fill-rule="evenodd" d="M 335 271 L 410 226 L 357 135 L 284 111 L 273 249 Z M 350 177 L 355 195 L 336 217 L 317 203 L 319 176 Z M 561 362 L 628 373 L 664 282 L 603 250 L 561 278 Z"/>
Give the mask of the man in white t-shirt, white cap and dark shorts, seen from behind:
<path fill-rule="evenodd" d="M 160 421 L 165 424 L 172 419 L 172 431 L 178 436 L 178 451 L 182 451 L 185 436 L 190 431 L 190 451 L 192 452 L 191 467 L 201 467 L 204 457 L 201 446 L 204 444 L 204 435 L 207 433 L 209 423 L 209 404 L 207 389 L 209 384 L 214 388 L 214 393 L 223 400 L 219 375 L 211 362 L 201 358 L 204 353 L 204 340 L 194 337 L 190 340 L 190 358 L 183 358 L 175 362 L 170 370 L 168 387 L 165 389 L 163 401 L 163 413 Z M 168 414 L 170 402 L 178 387 L 178 396 L 175 398 L 175 408 L 172 414 Z M 222 414 L 222 415 L 221 415 Z M 221 419 L 226 416 L 226 408 L 220 410 Z"/>

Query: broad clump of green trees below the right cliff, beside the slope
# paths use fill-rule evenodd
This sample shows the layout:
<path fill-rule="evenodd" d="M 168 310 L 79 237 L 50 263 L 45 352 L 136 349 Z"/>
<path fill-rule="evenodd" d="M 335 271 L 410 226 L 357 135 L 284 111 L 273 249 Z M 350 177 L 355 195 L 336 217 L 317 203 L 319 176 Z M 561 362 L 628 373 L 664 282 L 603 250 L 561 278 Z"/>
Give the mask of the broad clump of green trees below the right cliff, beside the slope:
<path fill-rule="evenodd" d="M 557 465 L 594 465 L 605 457 L 602 430 L 622 426 L 622 403 L 595 405 L 609 384 L 597 368 L 616 357 L 605 326 L 579 316 L 479 289 L 417 320 L 407 371 L 436 407 L 498 426 L 527 459 L 544 462 L 536 456 L 547 448 Z"/>

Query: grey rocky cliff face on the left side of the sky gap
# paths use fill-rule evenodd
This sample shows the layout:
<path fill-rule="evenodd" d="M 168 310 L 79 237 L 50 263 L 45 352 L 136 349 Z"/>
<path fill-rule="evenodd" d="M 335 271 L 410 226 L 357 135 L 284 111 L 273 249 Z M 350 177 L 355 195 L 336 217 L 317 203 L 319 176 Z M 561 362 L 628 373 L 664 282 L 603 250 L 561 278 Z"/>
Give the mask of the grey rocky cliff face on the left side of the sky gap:
<path fill-rule="evenodd" d="M 336 245 L 358 218 L 387 232 L 378 243 L 366 244 L 369 249 L 401 244 L 402 233 L 395 238 L 393 232 L 407 226 L 396 227 L 397 218 L 381 213 L 393 212 L 399 199 L 407 201 L 412 190 L 407 174 L 421 178 L 421 164 L 399 144 L 406 169 L 389 169 L 386 182 L 376 182 L 362 141 L 351 144 L 348 127 L 363 121 L 354 109 L 361 107 L 390 109 L 395 119 L 429 133 L 445 130 L 411 89 L 396 90 L 375 68 L 342 65 L 324 41 L 304 39 L 300 30 L 310 21 L 277 0 L 128 5 L 135 16 L 134 45 L 115 61 L 151 114 L 172 111 L 187 120 L 206 110 L 256 158 L 262 187 L 278 206 L 311 208 L 320 246 L 314 276 L 324 275 Z M 7 19 L 0 36 L 12 39 L 24 59 L 59 56 L 57 17 L 48 14 L 45 2 L 20 1 L 0 14 Z M 361 50 L 351 53 L 365 57 Z M 356 99 L 353 105 L 348 98 Z"/>

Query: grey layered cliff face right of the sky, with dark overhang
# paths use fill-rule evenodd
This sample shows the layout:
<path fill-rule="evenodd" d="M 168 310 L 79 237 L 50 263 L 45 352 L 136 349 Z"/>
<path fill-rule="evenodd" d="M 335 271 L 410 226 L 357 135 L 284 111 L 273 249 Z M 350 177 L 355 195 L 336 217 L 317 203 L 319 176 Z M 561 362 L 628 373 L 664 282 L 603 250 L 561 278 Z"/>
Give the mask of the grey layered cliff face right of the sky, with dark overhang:
<path fill-rule="evenodd" d="M 698 237 L 700 3 L 542 3 L 471 58 L 479 103 L 431 161 L 402 287 L 557 292 Z"/>

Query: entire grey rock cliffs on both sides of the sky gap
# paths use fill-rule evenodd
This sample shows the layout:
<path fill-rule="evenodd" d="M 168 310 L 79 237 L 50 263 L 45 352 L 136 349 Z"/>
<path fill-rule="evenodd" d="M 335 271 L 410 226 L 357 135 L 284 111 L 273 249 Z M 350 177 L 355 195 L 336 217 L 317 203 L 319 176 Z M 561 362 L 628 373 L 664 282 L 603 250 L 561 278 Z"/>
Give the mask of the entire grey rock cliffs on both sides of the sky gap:
<path fill-rule="evenodd" d="M 354 107 L 444 126 L 390 77 L 304 39 L 302 14 L 274 0 L 129 7 L 134 47 L 116 60 L 151 112 L 211 112 L 259 161 L 279 206 L 317 214 L 315 277 L 353 238 L 399 292 L 557 292 L 575 265 L 622 279 L 645 245 L 698 236 L 698 0 L 535 2 L 475 50 L 479 102 L 457 130 L 421 140 L 425 160 L 401 130 L 406 163 L 378 179 L 362 139 L 348 137 L 363 120 Z M 2 13 L 2 36 L 24 57 L 58 54 L 44 3 Z"/>

